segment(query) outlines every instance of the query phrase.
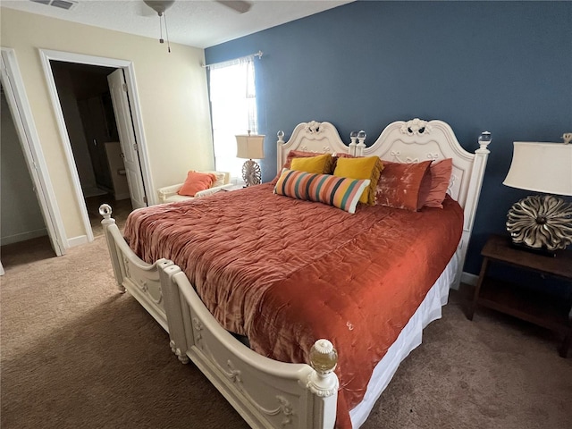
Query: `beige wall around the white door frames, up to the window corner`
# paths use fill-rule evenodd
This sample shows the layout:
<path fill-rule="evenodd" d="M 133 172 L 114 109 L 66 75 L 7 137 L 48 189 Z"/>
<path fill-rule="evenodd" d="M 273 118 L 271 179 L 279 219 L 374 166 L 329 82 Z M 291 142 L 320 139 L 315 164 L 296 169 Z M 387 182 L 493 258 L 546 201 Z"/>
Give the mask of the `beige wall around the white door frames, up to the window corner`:
<path fill-rule="evenodd" d="M 214 167 L 202 49 L 0 8 L 0 45 L 15 50 L 68 239 L 85 235 L 39 48 L 133 62 L 150 163 L 150 192 Z"/>

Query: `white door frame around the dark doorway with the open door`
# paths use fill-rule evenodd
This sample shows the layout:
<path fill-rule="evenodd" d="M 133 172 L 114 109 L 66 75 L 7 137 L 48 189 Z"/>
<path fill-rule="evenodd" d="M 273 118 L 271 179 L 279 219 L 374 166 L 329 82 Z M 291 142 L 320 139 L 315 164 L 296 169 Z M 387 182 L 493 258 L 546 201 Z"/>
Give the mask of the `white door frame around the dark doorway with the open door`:
<path fill-rule="evenodd" d="M 139 147 L 139 162 L 141 165 L 141 175 L 143 178 L 143 185 L 146 190 L 147 204 L 156 204 L 155 192 L 152 186 L 152 180 L 150 175 L 150 168 L 147 156 L 147 144 L 145 139 L 145 132 L 143 130 L 143 121 L 141 116 L 141 110 L 139 105 L 139 94 L 137 92 L 137 83 L 135 80 L 135 67 L 131 61 L 118 60 L 114 58 L 105 58 L 102 56 L 93 55 L 82 55 L 74 54 L 70 52 L 54 51 L 50 49 L 38 49 L 40 60 L 42 62 L 42 67 L 44 68 L 44 74 L 46 75 L 46 84 L 50 98 L 52 100 L 52 106 L 54 108 L 55 120 L 60 131 L 60 137 L 63 141 L 63 150 L 65 153 L 66 161 L 68 164 L 69 171 L 71 172 L 71 185 L 75 192 L 76 201 L 80 206 L 80 213 L 82 215 L 83 225 L 86 231 L 84 237 L 74 238 L 68 241 L 71 246 L 76 246 L 82 244 L 86 241 L 93 241 L 93 231 L 91 231 L 91 223 L 89 222 L 88 210 L 83 197 L 83 192 L 81 190 L 80 176 L 78 174 L 78 169 L 76 167 L 75 161 L 73 159 L 73 153 L 71 151 L 71 142 L 68 136 L 67 128 L 65 127 L 65 121 L 63 120 L 62 106 L 60 105 L 60 99 L 57 95 L 57 89 L 55 88 L 54 74 L 52 72 L 52 67 L 50 66 L 50 60 L 63 61 L 66 63 L 82 63 L 89 65 L 99 65 L 103 67 L 114 67 L 122 68 L 125 71 L 125 80 L 127 83 L 127 90 L 130 96 L 130 109 L 131 109 L 131 120 L 133 122 L 133 129 L 135 130 L 135 138 L 137 139 Z"/>

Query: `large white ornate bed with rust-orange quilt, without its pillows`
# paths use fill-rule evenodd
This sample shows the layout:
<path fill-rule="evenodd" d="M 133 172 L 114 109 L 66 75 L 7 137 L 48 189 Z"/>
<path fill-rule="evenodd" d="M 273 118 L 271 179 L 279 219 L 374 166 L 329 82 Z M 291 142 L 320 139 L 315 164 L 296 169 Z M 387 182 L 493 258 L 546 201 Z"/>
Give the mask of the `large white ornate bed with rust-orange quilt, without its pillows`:
<path fill-rule="evenodd" d="M 263 184 L 139 209 L 129 244 L 102 206 L 114 274 L 181 362 L 192 360 L 252 427 L 359 427 L 460 281 L 487 143 L 468 153 L 448 124 L 419 119 L 392 122 L 370 147 L 363 134 L 345 145 L 329 122 L 278 136 L 279 170 L 292 150 L 451 158 L 450 197 L 442 209 L 348 214 Z"/>

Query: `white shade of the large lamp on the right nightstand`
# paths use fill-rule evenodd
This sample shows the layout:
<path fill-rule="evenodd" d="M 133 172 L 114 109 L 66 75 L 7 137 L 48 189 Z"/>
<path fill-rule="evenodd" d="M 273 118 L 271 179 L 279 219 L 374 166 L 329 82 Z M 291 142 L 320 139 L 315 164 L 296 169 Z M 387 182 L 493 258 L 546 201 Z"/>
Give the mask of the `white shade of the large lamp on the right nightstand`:
<path fill-rule="evenodd" d="M 572 195 L 572 145 L 515 141 L 509 174 L 502 183 L 517 189 Z"/>

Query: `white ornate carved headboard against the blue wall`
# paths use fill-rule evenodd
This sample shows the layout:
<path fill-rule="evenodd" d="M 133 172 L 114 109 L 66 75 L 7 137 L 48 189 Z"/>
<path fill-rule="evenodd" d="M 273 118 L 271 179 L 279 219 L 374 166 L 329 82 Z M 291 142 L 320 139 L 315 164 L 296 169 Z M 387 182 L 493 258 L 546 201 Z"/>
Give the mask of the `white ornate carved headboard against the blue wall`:
<path fill-rule="evenodd" d="M 489 142 L 479 142 L 475 153 L 467 152 L 458 143 L 449 124 L 442 121 L 423 121 L 418 118 L 410 121 L 391 122 L 382 131 L 374 144 L 366 147 L 365 137 L 351 138 L 349 145 L 341 141 L 338 130 L 330 122 L 302 122 L 296 126 L 288 142 L 278 133 L 278 171 L 290 150 L 304 150 L 316 153 L 349 153 L 355 156 L 379 156 L 381 159 L 397 163 L 416 163 L 427 159 L 453 159 L 448 193 L 463 207 L 465 221 L 463 236 L 459 243 L 460 267 L 462 269 L 467 253 L 468 240 L 475 223 L 484 169 L 486 167 Z M 460 280 L 460 279 L 458 279 Z"/>

